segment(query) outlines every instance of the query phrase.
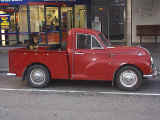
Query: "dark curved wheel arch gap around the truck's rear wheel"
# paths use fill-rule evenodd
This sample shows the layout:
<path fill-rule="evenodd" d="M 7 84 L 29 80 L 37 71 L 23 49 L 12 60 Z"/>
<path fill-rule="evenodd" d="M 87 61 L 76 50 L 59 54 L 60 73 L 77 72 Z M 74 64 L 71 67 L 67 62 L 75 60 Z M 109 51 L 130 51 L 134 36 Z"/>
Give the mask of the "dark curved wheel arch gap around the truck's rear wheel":
<path fill-rule="evenodd" d="M 31 66 L 33 66 L 33 65 L 42 65 L 43 67 L 45 67 L 45 68 L 48 70 L 49 75 L 50 75 L 50 77 L 51 77 L 51 72 L 50 72 L 49 68 L 48 68 L 45 64 L 43 64 L 43 63 L 32 63 L 32 64 L 28 65 L 28 66 L 24 69 L 22 80 L 26 80 L 27 71 L 28 71 L 29 67 L 31 67 Z"/>

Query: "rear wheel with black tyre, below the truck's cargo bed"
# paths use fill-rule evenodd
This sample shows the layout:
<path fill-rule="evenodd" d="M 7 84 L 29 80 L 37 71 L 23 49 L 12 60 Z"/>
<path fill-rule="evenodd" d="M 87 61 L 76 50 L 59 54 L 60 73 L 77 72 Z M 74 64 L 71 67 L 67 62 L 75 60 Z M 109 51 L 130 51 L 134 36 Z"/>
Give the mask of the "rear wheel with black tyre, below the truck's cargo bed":
<path fill-rule="evenodd" d="M 27 80 L 30 86 L 35 88 L 47 87 L 50 82 L 50 74 L 42 65 L 32 65 L 27 71 Z"/>

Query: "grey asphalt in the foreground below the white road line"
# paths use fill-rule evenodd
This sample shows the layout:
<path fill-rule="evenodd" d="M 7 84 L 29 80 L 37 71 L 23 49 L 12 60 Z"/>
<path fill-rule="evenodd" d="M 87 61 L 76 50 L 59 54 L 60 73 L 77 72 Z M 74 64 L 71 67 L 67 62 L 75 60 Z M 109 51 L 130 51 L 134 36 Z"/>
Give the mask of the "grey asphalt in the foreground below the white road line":
<path fill-rule="evenodd" d="M 160 97 L 0 91 L 0 120 L 159 120 Z"/>

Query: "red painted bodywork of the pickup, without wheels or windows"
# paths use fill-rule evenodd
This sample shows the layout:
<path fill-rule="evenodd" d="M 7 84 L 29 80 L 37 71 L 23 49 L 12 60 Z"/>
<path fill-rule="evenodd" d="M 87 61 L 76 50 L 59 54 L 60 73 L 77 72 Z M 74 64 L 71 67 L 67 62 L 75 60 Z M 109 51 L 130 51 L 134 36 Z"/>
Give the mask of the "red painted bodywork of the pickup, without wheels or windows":
<path fill-rule="evenodd" d="M 94 35 L 104 49 L 76 49 L 76 34 Z M 152 73 L 149 53 L 140 47 L 108 47 L 99 37 L 100 32 L 75 28 L 69 31 L 66 50 L 38 50 L 25 48 L 9 51 L 9 72 L 23 76 L 32 64 L 43 64 L 52 79 L 113 80 L 115 72 L 124 65 L 139 68 L 144 75 Z M 84 53 L 77 55 L 75 53 Z M 141 56 L 138 56 L 141 53 Z"/>

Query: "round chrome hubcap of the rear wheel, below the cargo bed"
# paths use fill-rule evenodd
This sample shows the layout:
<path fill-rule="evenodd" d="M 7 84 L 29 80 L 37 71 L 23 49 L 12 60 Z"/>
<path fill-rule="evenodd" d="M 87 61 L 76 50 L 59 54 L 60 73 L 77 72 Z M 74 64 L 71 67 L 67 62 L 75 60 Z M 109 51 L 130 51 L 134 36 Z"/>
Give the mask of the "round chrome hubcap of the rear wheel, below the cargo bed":
<path fill-rule="evenodd" d="M 41 85 L 46 80 L 45 72 L 42 69 L 33 69 L 30 74 L 30 79 L 32 83 L 36 85 Z"/>

